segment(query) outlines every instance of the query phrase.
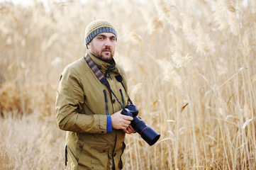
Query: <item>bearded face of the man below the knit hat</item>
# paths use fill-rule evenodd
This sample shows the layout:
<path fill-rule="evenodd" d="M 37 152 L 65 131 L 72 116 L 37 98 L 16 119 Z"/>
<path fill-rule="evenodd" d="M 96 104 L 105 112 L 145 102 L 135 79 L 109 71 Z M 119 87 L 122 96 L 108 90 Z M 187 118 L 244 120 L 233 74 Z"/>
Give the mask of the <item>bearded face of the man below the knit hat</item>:
<path fill-rule="evenodd" d="M 116 50 L 116 35 L 113 33 L 99 33 L 87 45 L 95 57 L 110 62 Z"/>

